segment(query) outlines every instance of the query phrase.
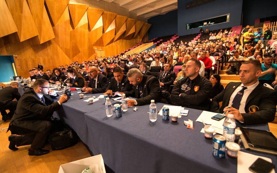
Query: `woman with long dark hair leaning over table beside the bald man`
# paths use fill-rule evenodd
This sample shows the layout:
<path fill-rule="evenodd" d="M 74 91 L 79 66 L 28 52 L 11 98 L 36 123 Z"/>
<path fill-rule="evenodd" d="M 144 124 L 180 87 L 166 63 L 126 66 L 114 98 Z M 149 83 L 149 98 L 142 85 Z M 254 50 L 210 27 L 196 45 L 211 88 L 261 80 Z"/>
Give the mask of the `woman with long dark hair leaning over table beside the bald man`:
<path fill-rule="evenodd" d="M 67 85 L 77 88 L 83 88 L 85 86 L 85 79 L 75 68 L 69 68 L 67 70 L 67 76 L 71 78 L 70 83 L 66 83 Z"/>

